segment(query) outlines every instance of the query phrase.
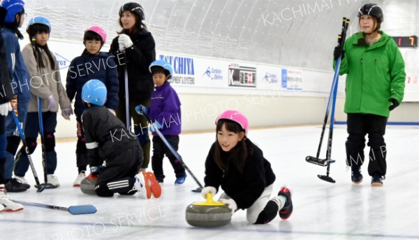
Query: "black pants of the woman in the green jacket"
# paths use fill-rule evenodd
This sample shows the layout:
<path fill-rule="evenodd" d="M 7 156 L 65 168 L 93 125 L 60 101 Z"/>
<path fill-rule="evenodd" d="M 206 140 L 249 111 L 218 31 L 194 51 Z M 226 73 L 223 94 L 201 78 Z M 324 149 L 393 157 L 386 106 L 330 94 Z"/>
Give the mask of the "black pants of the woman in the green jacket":
<path fill-rule="evenodd" d="M 351 167 L 361 167 L 365 161 L 365 135 L 368 134 L 369 162 L 368 174 L 385 176 L 387 163 L 385 157 L 387 148 L 384 142 L 385 126 L 387 118 L 362 113 L 348 113 L 346 140 L 346 163 Z"/>

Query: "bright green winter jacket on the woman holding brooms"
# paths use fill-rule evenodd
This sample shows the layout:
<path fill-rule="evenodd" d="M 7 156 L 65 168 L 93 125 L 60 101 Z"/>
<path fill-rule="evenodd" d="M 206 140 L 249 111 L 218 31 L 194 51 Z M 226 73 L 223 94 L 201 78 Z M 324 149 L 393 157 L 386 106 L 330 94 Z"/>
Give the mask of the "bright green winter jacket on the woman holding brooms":
<path fill-rule="evenodd" d="M 403 57 L 392 37 L 379 33 L 381 38 L 372 45 L 365 43 L 362 32 L 345 41 L 339 71 L 339 75 L 347 74 L 345 113 L 388 117 L 389 99 L 402 102 L 406 79 Z"/>

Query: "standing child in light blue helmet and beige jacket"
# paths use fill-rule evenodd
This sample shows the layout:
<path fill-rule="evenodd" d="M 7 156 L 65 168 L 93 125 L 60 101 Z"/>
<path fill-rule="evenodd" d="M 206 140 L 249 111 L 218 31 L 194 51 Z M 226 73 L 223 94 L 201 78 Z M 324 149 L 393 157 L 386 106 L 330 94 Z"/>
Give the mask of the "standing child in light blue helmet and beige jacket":
<path fill-rule="evenodd" d="M 57 169 L 57 153 L 55 152 L 55 129 L 57 127 L 57 112 L 61 107 L 61 115 L 70 120 L 73 114 L 71 102 L 68 99 L 64 85 L 61 83 L 57 58 L 48 49 L 51 24 L 42 16 L 29 20 L 27 33 L 31 43 L 22 49 L 24 63 L 31 79 L 31 100 L 24 125 L 24 136 L 29 148 L 29 154 L 36 149 L 36 139 L 40 132 L 38 114 L 42 114 L 44 129 L 44 147 L 47 166 L 47 185 L 45 188 L 58 188 L 59 181 L 54 175 Z M 41 101 L 42 109 L 38 109 Z M 24 175 L 29 168 L 29 160 L 24 148 L 20 148 L 15 160 L 15 176 L 22 183 L 27 184 Z M 28 185 L 29 186 L 29 185 Z"/>

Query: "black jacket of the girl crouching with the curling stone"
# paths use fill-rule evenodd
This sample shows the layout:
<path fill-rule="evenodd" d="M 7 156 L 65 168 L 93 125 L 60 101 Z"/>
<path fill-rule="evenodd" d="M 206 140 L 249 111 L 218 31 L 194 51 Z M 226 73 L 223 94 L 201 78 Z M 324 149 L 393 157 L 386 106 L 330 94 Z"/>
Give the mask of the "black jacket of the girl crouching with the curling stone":
<path fill-rule="evenodd" d="M 275 181 L 270 162 L 263 157 L 263 152 L 249 139 L 247 143 L 247 160 L 243 173 L 237 170 L 230 160 L 230 152 L 221 152 L 221 158 L 228 162 L 226 169 L 220 169 L 214 161 L 215 144 L 205 161 L 205 187 L 212 186 L 218 191 L 219 186 L 237 204 L 238 209 L 249 208 L 262 195 L 263 190 Z"/>

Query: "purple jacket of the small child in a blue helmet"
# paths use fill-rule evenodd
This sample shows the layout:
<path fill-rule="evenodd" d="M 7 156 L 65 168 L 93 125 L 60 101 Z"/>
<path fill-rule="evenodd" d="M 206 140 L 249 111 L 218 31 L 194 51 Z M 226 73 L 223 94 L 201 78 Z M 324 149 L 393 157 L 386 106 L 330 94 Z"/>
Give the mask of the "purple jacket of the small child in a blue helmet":
<path fill-rule="evenodd" d="M 180 100 L 169 82 L 156 87 L 152 92 L 149 107 L 149 118 L 152 122 L 159 122 L 163 127 L 163 135 L 179 135 L 181 132 Z M 157 134 L 153 132 L 153 136 Z"/>

